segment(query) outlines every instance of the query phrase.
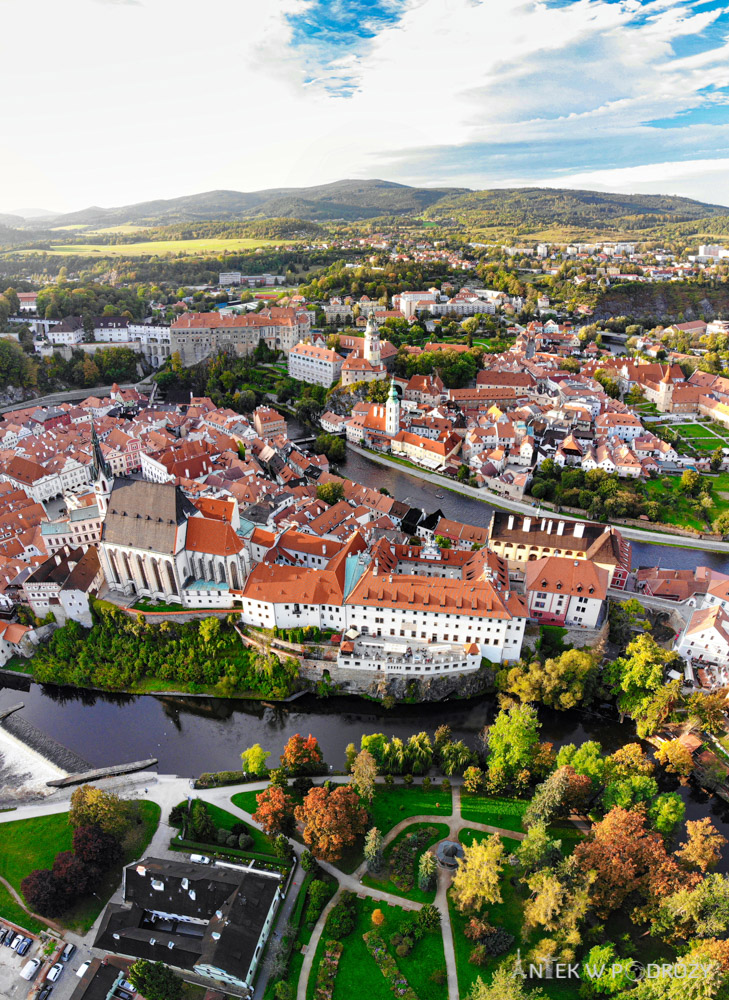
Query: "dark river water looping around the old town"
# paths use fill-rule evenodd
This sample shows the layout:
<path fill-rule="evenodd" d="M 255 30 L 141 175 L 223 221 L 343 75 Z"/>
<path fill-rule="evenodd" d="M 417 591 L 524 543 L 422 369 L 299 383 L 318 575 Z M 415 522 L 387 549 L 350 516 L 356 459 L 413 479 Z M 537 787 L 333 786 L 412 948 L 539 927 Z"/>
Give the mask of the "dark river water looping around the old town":
<path fill-rule="evenodd" d="M 445 492 L 406 473 L 377 466 L 350 454 L 342 471 L 368 486 L 386 487 L 413 506 L 440 507 L 456 520 L 486 525 L 492 508 L 478 500 Z M 729 572 L 729 559 L 698 550 L 633 543 L 633 565 L 694 566 L 698 561 Z M 22 683 L 22 682 L 21 682 Z M 272 751 L 276 760 L 293 733 L 313 733 L 326 760 L 344 763 L 344 749 L 363 733 L 384 732 L 406 738 L 421 729 L 431 734 L 443 722 L 456 738 L 475 746 L 478 733 L 495 713 L 493 698 L 437 705 L 405 705 L 387 711 L 354 698 L 320 700 L 311 696 L 282 706 L 241 700 L 95 694 L 38 684 L 29 690 L 0 688 L 0 711 L 23 701 L 23 715 L 93 766 L 146 757 L 159 759 L 160 773 L 194 776 L 240 766 L 240 752 L 252 743 Z M 630 723 L 619 725 L 610 706 L 593 713 L 542 712 L 542 738 L 556 746 L 598 740 L 607 753 L 635 739 Z M 670 782 L 671 779 L 666 779 Z M 666 787 L 676 787 L 668 784 Z M 678 789 L 687 818 L 710 815 L 729 838 L 729 805 L 693 787 Z"/>

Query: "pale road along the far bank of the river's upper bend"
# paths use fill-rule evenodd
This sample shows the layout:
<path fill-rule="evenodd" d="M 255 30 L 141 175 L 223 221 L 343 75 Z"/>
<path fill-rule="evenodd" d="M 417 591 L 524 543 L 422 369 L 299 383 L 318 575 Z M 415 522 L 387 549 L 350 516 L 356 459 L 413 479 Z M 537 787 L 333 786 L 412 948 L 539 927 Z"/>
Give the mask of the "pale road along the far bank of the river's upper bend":
<path fill-rule="evenodd" d="M 425 472 L 422 469 L 415 469 L 409 465 L 402 465 L 400 462 L 393 462 L 384 455 L 380 455 L 374 451 L 367 451 L 355 444 L 348 443 L 347 447 L 351 448 L 358 455 L 362 455 L 363 458 L 367 458 L 371 462 L 376 462 L 378 465 L 401 472 L 406 476 L 412 476 L 414 479 L 421 479 L 423 482 L 440 487 L 440 489 L 450 490 L 452 493 L 460 493 L 463 496 L 471 497 L 473 500 L 480 500 L 482 503 L 488 503 L 492 507 L 498 507 L 500 510 L 513 511 L 516 514 L 529 514 L 532 517 L 540 512 L 545 516 L 547 513 L 550 515 L 553 514 L 553 511 L 548 507 L 536 507 L 535 509 L 534 503 L 524 500 L 511 500 L 509 497 L 502 497 L 498 493 L 491 493 L 488 490 L 468 486 L 466 483 L 459 483 L 455 479 L 446 479 L 444 476 L 439 476 L 433 472 Z M 573 517 L 571 514 L 558 514 L 556 516 L 564 521 L 584 520 L 584 518 Z M 621 535 L 631 542 L 643 542 L 649 545 L 673 545 L 678 548 L 700 549 L 704 552 L 729 553 L 729 542 L 719 541 L 718 539 L 694 538 L 690 535 L 673 535 L 670 532 L 631 528 L 622 524 L 619 527 Z"/>

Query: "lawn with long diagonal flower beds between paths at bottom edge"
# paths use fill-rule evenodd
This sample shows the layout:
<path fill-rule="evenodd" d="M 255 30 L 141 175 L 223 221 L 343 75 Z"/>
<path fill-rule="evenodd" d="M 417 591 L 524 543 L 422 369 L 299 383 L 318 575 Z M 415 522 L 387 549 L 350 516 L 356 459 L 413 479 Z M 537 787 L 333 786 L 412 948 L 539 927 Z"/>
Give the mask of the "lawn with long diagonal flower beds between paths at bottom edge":
<path fill-rule="evenodd" d="M 367 997 L 367 1000 L 392 1000 L 392 992 L 385 977 L 375 964 L 367 950 L 362 935 L 373 930 L 372 912 L 382 910 L 385 922 L 378 928 L 379 933 L 387 942 L 390 935 L 398 929 L 404 917 L 405 910 L 399 906 L 388 906 L 375 899 L 357 899 L 357 923 L 350 935 L 343 939 L 344 950 L 337 967 L 337 978 L 334 982 L 332 1000 L 352 1000 L 352 997 Z M 326 946 L 326 929 L 321 936 L 314 956 L 309 982 L 307 984 L 307 1000 L 313 1000 L 316 983 L 316 972 L 319 961 Z M 436 969 L 445 969 L 443 954 L 443 938 L 439 932 L 426 934 L 416 943 L 409 955 L 400 958 L 393 950 L 388 950 L 397 962 L 400 972 L 405 976 L 416 993 L 418 1000 L 447 1000 L 447 985 L 438 986 L 430 979 Z M 463 995 L 463 994 L 462 994 Z"/>

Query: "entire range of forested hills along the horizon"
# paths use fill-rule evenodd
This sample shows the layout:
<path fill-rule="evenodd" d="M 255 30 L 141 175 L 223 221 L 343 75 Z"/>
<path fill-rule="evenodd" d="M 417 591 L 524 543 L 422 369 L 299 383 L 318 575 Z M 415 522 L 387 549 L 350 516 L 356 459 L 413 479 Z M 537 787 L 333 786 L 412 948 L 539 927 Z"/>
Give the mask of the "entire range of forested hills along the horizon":
<path fill-rule="evenodd" d="M 561 188 L 418 188 L 382 180 L 343 180 L 308 188 L 208 191 L 118 208 L 87 208 L 53 219 L 28 219 L 18 228 L 181 225 L 298 219 L 313 223 L 369 219 L 431 221 L 468 238 L 691 238 L 729 235 L 729 208 L 669 195 L 625 195 Z M 0 219 L 2 222 L 2 219 Z M 375 225 L 378 223 L 376 222 Z M 10 223 L 6 223 L 10 225 Z M 78 236 L 78 232 L 75 233 Z M 32 237 L 31 237 L 32 238 Z M 5 242 L 8 242 L 7 240 Z M 11 242 L 20 242 L 16 239 Z"/>

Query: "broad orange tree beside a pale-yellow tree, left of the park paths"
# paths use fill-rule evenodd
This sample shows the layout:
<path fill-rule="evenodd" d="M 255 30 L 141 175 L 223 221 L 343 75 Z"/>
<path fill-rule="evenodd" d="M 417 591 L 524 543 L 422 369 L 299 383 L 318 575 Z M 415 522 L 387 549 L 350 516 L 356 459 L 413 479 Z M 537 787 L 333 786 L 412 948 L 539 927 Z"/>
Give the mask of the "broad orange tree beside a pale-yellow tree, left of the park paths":
<path fill-rule="evenodd" d="M 367 810 L 351 785 L 312 788 L 294 812 L 314 857 L 337 861 L 368 826 Z"/>

